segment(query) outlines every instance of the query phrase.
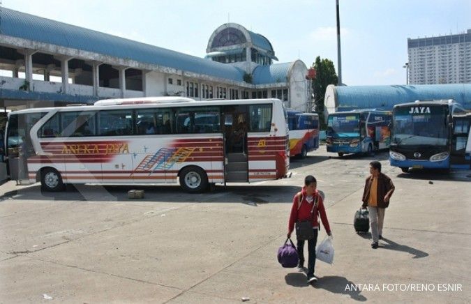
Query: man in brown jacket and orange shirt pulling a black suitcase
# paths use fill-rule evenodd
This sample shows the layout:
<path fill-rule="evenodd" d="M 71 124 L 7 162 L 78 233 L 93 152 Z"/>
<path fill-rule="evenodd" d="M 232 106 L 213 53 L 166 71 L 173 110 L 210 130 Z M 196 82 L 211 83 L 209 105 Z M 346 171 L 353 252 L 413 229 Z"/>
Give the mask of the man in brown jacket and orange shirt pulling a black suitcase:
<path fill-rule="evenodd" d="M 365 181 L 362 208 L 368 206 L 371 226 L 371 248 L 376 249 L 378 239 L 382 238 L 384 211 L 389 206 L 389 199 L 394 192 L 394 184 L 386 174 L 381 173 L 381 162 L 370 162 L 370 173 Z"/>

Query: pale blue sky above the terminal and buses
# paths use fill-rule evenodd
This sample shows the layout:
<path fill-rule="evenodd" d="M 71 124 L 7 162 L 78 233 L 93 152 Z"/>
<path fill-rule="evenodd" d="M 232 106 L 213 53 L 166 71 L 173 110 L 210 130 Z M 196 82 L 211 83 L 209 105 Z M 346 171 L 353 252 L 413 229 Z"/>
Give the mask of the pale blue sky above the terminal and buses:
<path fill-rule="evenodd" d="M 204 57 L 227 22 L 260 33 L 278 63 L 320 56 L 338 72 L 335 0 L 0 0 L 1 6 Z M 471 29 L 471 0 L 339 0 L 342 81 L 405 84 L 408 38 Z M 276 61 L 275 61 L 276 62 Z"/>

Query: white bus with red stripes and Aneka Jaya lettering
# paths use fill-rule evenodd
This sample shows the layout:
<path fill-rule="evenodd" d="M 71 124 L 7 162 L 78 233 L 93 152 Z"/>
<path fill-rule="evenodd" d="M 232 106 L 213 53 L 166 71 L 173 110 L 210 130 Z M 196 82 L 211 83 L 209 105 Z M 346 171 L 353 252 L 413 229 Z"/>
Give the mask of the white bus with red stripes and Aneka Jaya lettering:
<path fill-rule="evenodd" d="M 6 134 L 13 177 L 49 191 L 178 178 L 184 190 L 202 192 L 209 183 L 283 178 L 289 167 L 277 99 L 132 98 L 24 109 L 10 113 Z"/>

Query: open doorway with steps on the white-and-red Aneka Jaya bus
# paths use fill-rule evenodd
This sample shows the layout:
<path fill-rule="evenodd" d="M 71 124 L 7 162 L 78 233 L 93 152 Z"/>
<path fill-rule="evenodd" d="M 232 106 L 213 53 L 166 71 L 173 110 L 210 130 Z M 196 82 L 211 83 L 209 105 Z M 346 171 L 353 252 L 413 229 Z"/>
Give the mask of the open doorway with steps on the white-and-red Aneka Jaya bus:
<path fill-rule="evenodd" d="M 225 181 L 248 181 L 248 105 L 223 107 Z"/>

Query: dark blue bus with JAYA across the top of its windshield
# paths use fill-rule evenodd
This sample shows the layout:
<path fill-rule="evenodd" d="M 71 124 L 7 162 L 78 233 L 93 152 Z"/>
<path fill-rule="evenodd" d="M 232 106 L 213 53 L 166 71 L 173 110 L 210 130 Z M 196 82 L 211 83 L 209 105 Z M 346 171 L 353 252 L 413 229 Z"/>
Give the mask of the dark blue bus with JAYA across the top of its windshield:
<path fill-rule="evenodd" d="M 412 168 L 470 168 L 466 145 L 471 115 L 454 100 L 396 105 L 389 162 L 403 172 Z"/>

